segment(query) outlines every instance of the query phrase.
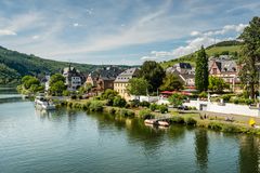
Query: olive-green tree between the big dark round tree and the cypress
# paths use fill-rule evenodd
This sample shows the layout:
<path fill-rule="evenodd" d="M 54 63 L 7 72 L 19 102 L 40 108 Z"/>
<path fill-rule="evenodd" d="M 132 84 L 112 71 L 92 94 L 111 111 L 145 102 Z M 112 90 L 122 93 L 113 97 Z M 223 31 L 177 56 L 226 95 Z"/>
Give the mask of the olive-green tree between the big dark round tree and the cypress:
<path fill-rule="evenodd" d="M 181 90 L 183 89 L 183 83 L 180 81 L 179 77 L 174 74 L 167 74 L 162 80 L 162 84 L 159 88 L 161 91 L 168 90 Z"/>

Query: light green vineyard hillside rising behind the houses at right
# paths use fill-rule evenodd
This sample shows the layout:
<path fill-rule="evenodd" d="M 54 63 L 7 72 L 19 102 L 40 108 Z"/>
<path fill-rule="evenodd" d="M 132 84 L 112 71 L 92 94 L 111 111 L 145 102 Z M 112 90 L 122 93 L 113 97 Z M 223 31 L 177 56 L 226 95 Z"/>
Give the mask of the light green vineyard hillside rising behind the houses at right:
<path fill-rule="evenodd" d="M 235 40 L 222 41 L 206 48 L 206 53 L 209 56 L 219 56 L 219 55 L 229 54 L 229 55 L 233 55 L 234 58 L 237 58 L 237 55 L 239 54 L 239 51 L 240 51 L 240 46 L 242 46 L 242 43 Z M 197 51 L 188 55 L 181 56 L 179 58 L 174 58 L 168 62 L 162 62 L 161 66 L 164 68 L 168 68 L 177 63 L 191 63 L 193 66 L 195 66 L 196 53 Z"/>

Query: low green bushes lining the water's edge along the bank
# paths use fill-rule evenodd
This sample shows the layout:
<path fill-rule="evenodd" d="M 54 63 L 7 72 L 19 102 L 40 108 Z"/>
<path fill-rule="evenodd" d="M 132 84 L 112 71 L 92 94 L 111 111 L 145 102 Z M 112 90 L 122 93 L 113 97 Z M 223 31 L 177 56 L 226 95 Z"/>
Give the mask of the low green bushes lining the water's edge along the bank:
<path fill-rule="evenodd" d="M 148 108 L 133 109 L 126 107 L 107 106 L 105 101 L 89 99 L 82 101 L 65 101 L 58 104 L 58 107 L 67 107 L 92 112 L 106 112 L 109 115 L 121 116 L 125 118 L 152 119 L 155 118 L 155 112 Z M 157 112 L 158 114 L 158 112 Z M 170 124 L 182 124 L 187 127 L 206 128 L 213 131 L 225 133 L 245 133 L 260 135 L 259 129 L 253 129 L 242 123 L 225 122 L 221 120 L 200 120 L 196 117 L 188 116 L 172 116 L 169 119 Z"/>

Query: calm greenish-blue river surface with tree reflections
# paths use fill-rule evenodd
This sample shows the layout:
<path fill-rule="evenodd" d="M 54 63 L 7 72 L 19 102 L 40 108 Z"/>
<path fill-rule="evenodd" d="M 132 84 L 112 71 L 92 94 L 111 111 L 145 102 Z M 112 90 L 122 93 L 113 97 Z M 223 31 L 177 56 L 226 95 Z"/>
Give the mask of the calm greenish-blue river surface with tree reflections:
<path fill-rule="evenodd" d="M 62 109 L 0 90 L 1 173 L 259 172 L 260 139 Z"/>

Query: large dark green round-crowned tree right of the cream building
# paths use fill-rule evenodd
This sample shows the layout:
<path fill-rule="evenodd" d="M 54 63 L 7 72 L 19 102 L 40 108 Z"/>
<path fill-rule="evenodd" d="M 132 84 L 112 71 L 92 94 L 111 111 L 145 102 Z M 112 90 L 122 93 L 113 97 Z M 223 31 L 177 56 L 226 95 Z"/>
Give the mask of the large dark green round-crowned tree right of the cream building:
<path fill-rule="evenodd" d="M 150 83 L 151 92 L 157 91 L 165 76 L 162 67 L 154 61 L 144 62 L 139 72 L 139 77 L 144 78 Z"/>

